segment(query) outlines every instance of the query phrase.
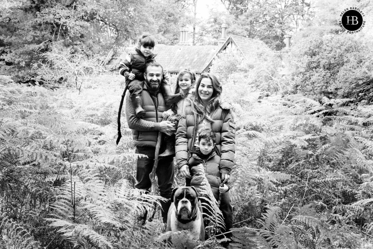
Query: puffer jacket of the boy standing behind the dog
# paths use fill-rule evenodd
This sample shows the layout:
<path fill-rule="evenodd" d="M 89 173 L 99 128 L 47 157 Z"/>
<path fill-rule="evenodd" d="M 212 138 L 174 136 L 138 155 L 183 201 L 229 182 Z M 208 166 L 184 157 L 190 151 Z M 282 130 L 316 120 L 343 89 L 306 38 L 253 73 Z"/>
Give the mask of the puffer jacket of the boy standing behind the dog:
<path fill-rule="evenodd" d="M 211 186 L 212 193 L 216 200 L 219 199 L 219 185 L 222 183 L 219 174 L 220 156 L 216 151 L 212 151 L 211 155 L 206 158 L 201 158 L 201 151 L 192 147 L 191 157 L 188 160 L 189 169 L 192 175 L 190 186 L 198 189 L 202 185 L 203 175 L 206 175 L 207 181 Z"/>

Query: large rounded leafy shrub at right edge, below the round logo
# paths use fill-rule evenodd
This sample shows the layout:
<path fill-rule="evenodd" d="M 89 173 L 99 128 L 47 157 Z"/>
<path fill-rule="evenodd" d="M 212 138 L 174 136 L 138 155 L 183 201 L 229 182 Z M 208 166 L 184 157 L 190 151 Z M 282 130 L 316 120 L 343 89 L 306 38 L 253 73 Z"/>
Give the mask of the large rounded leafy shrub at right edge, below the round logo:
<path fill-rule="evenodd" d="M 320 99 L 373 100 L 373 50 L 351 35 L 314 35 L 293 46 L 290 89 Z"/>

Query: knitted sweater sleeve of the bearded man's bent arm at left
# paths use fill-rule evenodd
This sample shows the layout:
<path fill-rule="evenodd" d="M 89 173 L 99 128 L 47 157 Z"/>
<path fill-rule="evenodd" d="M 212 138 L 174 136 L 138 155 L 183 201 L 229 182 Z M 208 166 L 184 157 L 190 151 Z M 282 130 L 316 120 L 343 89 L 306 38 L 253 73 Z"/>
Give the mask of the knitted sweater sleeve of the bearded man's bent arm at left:
<path fill-rule="evenodd" d="M 125 113 L 128 128 L 137 131 L 159 131 L 159 123 L 138 118 L 129 94 L 126 95 Z"/>

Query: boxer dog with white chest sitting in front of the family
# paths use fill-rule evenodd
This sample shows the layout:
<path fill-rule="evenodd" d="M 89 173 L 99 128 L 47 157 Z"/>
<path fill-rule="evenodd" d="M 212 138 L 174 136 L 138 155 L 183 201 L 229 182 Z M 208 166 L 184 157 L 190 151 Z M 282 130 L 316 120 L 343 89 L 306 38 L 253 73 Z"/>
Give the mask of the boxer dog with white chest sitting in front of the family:
<path fill-rule="evenodd" d="M 188 242 L 204 241 L 205 228 L 201 207 L 198 206 L 197 190 L 194 187 L 176 187 L 172 191 L 171 201 L 166 231 L 186 230 Z M 194 248 L 194 245 L 191 244 L 191 246 Z"/>

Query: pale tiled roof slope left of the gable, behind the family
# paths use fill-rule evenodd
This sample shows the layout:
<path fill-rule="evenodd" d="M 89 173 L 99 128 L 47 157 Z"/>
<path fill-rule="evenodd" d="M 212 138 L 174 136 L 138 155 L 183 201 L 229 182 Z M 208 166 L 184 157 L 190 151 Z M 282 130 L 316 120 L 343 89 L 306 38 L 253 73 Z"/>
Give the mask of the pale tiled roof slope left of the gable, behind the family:
<path fill-rule="evenodd" d="M 156 60 L 161 63 L 164 70 L 179 72 L 189 69 L 201 73 L 214 59 L 220 46 L 166 46 L 157 45 L 154 53 Z"/>

